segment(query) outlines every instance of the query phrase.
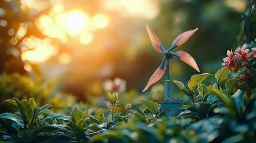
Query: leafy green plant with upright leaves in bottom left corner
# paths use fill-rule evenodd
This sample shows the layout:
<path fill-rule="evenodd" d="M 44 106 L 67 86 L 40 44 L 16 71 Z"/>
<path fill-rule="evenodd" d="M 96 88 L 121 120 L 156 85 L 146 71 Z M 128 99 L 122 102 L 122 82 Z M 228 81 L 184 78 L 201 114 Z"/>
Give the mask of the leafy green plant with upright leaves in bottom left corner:
<path fill-rule="evenodd" d="M 2 113 L 0 114 L 1 128 L 5 128 L 5 132 L 1 132 L 1 138 L 6 141 L 25 142 L 28 139 L 36 139 L 39 135 L 39 121 L 41 116 L 47 115 L 50 112 L 45 112 L 51 104 L 46 104 L 42 107 L 36 107 L 35 100 L 29 98 L 29 101 L 7 100 L 11 104 L 19 108 L 18 113 Z M 44 113 L 42 113 L 44 111 Z"/>

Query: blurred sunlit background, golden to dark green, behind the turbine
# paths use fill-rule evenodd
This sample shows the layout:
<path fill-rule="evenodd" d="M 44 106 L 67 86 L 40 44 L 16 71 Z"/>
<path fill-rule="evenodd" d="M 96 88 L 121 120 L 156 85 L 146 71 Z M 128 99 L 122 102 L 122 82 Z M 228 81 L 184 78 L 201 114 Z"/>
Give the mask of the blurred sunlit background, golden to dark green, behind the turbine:
<path fill-rule="evenodd" d="M 115 79 L 123 85 L 118 90 L 141 93 L 163 58 L 151 45 L 145 23 L 166 49 L 179 33 L 198 27 L 174 51 L 190 53 L 201 73 L 215 73 L 226 51 L 240 44 L 246 4 L 246 0 L 3 0 L 0 73 L 40 74 L 45 83 L 57 79 L 56 90 L 80 100 L 114 91 L 111 82 L 116 77 L 123 79 Z M 170 61 L 172 80 L 187 82 L 193 74 L 196 70 L 182 61 Z"/>

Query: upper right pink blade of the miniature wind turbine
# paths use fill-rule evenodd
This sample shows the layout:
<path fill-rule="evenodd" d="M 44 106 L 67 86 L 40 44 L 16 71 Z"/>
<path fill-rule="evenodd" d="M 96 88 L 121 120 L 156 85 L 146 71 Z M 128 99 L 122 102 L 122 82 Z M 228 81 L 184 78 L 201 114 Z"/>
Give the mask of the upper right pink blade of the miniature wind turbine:
<path fill-rule="evenodd" d="M 182 45 L 182 43 L 185 43 L 197 31 L 197 29 L 198 28 L 181 33 L 174 39 L 172 45 L 174 43 L 176 43 L 177 46 Z"/>

